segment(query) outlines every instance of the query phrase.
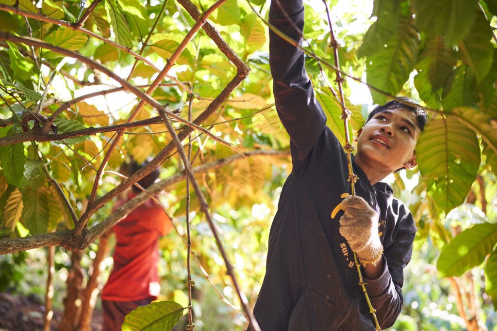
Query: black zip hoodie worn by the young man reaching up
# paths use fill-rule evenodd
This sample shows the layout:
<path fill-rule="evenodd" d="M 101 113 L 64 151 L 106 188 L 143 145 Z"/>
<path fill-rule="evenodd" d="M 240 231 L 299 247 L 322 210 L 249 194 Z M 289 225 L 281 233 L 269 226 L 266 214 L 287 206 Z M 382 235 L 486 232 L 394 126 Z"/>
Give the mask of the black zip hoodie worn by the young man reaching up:
<path fill-rule="evenodd" d="M 302 44 L 278 5 L 269 21 Z M 302 31 L 302 0 L 280 0 Z M 254 308 L 262 331 L 375 330 L 352 251 L 338 231 L 339 203 L 350 192 L 347 158 L 314 97 L 304 54 L 269 32 L 274 98 L 290 134 L 293 170 L 286 180 L 269 234 L 266 274 Z M 356 194 L 379 215 L 385 268 L 365 279 L 382 329 L 392 326 L 402 308 L 404 267 L 411 260 L 416 227 L 407 207 L 385 183 L 371 186 L 362 169 Z M 364 274 L 364 272 L 363 272 Z"/>

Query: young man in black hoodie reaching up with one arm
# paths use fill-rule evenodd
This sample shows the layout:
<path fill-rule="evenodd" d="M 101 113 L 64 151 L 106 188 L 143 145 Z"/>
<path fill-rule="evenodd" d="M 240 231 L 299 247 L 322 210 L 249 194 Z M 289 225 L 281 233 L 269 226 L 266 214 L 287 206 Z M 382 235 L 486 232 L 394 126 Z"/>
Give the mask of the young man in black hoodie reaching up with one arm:
<path fill-rule="evenodd" d="M 273 0 L 269 12 L 271 24 L 302 44 L 279 3 L 302 31 L 302 0 Z M 358 197 L 346 198 L 347 158 L 326 127 L 304 54 L 269 35 L 276 109 L 290 134 L 293 170 L 271 226 L 254 316 L 262 331 L 375 330 L 358 285 L 354 251 L 379 324 L 388 328 L 402 307 L 403 268 L 411 259 L 416 227 L 406 206 L 380 181 L 416 165 L 414 147 L 426 114 L 398 102 L 370 114 L 353 158 Z"/>

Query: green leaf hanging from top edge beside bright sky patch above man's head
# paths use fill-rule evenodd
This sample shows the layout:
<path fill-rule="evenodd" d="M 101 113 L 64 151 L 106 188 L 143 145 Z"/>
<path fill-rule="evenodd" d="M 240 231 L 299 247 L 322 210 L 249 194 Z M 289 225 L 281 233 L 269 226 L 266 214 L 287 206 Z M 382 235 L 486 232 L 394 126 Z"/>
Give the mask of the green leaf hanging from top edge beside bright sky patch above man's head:
<path fill-rule="evenodd" d="M 396 35 L 401 18 L 401 4 L 397 0 L 375 0 L 372 16 L 374 22 L 364 34 L 364 39 L 358 51 L 359 57 L 371 56 L 379 52 L 392 35 Z"/>

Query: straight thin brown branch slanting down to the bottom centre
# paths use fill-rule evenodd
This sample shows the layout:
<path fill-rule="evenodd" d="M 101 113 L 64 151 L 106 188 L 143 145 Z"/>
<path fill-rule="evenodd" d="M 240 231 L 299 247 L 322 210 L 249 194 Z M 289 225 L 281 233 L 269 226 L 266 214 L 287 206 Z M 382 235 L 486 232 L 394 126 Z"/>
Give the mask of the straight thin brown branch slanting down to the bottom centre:
<path fill-rule="evenodd" d="M 217 231 L 216 225 L 214 224 L 214 221 L 212 220 L 210 211 L 209 211 L 209 205 L 207 204 L 207 201 L 205 200 L 204 194 L 202 190 L 200 189 L 200 186 L 198 185 L 195 176 L 193 175 L 193 171 L 191 169 L 190 162 L 188 158 L 185 155 L 185 152 L 181 146 L 181 140 L 177 136 L 176 132 L 174 132 L 171 123 L 169 122 L 169 119 L 167 118 L 166 112 L 160 110 L 159 111 L 161 114 L 162 119 L 164 120 L 164 124 L 166 125 L 166 128 L 169 130 L 170 135 L 172 136 L 172 140 L 174 141 L 174 144 L 176 145 L 176 149 L 178 151 L 178 154 L 181 156 L 181 159 L 183 160 L 183 164 L 185 166 L 185 172 L 187 173 L 188 177 L 190 177 L 190 180 L 192 182 L 193 188 L 195 190 L 195 193 L 197 195 L 197 199 L 200 201 L 200 209 L 205 214 L 205 217 L 207 219 L 207 222 L 209 223 L 209 227 L 211 228 L 211 231 L 214 235 L 214 238 L 216 239 L 216 244 L 218 245 L 219 251 L 221 253 L 221 256 L 223 257 L 223 261 L 226 265 L 226 273 L 231 277 L 233 286 L 235 288 L 235 291 L 237 292 L 238 298 L 240 299 L 240 304 L 248 318 L 248 321 L 250 322 L 251 329 L 255 331 L 260 331 L 259 325 L 257 324 L 257 321 L 253 318 L 252 312 L 250 308 L 248 307 L 248 300 L 245 294 L 242 292 L 242 289 L 240 288 L 240 285 L 238 284 L 237 276 L 235 275 L 235 271 L 233 268 L 233 265 L 231 264 L 228 254 L 226 253 L 223 243 L 221 241 L 221 238 L 219 237 L 219 233 Z"/>

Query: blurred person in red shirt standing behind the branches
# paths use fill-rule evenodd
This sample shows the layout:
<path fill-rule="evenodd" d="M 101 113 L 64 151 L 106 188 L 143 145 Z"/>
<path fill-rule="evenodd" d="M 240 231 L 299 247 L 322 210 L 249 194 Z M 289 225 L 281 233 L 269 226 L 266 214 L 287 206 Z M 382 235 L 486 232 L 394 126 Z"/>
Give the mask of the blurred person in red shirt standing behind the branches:
<path fill-rule="evenodd" d="M 134 173 L 145 164 L 132 162 L 131 171 Z M 138 184 L 146 189 L 158 177 L 159 169 L 155 169 Z M 119 201 L 114 210 L 139 193 L 140 189 L 133 186 L 128 199 Z M 114 267 L 101 294 L 104 331 L 120 331 L 127 314 L 157 299 L 161 290 L 157 270 L 159 237 L 165 236 L 171 227 L 161 206 L 148 199 L 112 228 L 116 235 Z"/>

